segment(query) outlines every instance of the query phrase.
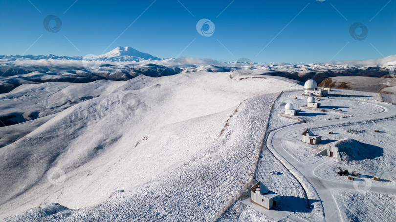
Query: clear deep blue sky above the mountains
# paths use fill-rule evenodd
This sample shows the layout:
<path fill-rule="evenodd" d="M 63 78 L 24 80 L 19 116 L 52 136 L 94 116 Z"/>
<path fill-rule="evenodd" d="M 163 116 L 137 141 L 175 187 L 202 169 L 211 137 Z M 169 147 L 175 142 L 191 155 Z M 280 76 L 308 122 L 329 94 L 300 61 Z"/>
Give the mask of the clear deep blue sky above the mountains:
<path fill-rule="evenodd" d="M 396 54 L 396 0 L 179 1 L 156 0 L 148 8 L 153 0 L 0 0 L 0 55 L 22 55 L 37 39 L 25 55 L 100 55 L 135 19 L 106 51 L 131 46 L 176 57 L 195 39 L 180 56 L 300 63 Z M 45 30 L 48 15 L 62 20 L 59 32 Z M 212 36 L 198 34 L 200 19 L 213 21 Z M 364 40 L 351 37 L 355 22 L 367 27 Z"/>

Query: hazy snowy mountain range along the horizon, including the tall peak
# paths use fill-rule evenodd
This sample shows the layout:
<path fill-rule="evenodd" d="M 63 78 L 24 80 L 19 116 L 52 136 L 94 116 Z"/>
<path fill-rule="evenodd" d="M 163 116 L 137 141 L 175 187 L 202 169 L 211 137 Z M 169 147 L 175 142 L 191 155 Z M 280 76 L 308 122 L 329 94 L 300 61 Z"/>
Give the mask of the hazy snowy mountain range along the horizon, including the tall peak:
<path fill-rule="evenodd" d="M 184 59 L 180 61 L 176 58 L 167 58 L 161 59 L 156 56 L 152 56 L 148 53 L 142 53 L 138 50 L 133 49 L 132 47 L 117 47 L 111 50 L 108 53 L 93 56 L 91 58 L 98 59 L 101 61 L 106 62 L 142 62 L 145 61 L 153 61 L 155 64 L 159 65 L 174 65 L 174 66 L 185 66 L 189 65 L 188 67 L 198 67 L 198 66 L 208 66 L 214 65 L 217 67 L 224 67 L 224 68 L 244 68 L 244 69 L 260 69 L 264 72 L 298 72 L 298 73 L 308 73 L 308 72 L 329 72 L 329 71 L 345 71 L 345 70 L 354 70 L 354 69 L 361 69 L 361 70 L 370 70 L 370 69 L 388 69 L 396 67 L 396 55 L 394 56 L 387 56 L 384 58 L 379 59 L 369 59 L 369 60 L 347 60 L 347 61 L 330 61 L 328 63 L 300 63 L 300 64 L 290 64 L 290 63 L 257 63 L 252 62 L 248 58 L 240 58 L 234 62 L 219 62 L 216 60 L 210 60 L 211 64 L 202 64 L 202 61 L 207 62 L 208 60 L 203 59 Z M 15 61 L 20 59 L 31 59 L 31 60 L 83 60 L 85 59 L 83 56 L 55 56 L 49 54 L 47 56 L 39 55 L 26 55 L 26 56 L 0 56 L 0 59 L 3 61 Z M 199 64 L 194 64 L 195 61 L 200 60 Z M 188 64 L 187 64 L 188 63 Z M 196 69 L 195 70 L 201 70 Z M 220 69 L 223 70 L 223 69 Z M 227 71 L 225 71 L 227 72 Z"/>

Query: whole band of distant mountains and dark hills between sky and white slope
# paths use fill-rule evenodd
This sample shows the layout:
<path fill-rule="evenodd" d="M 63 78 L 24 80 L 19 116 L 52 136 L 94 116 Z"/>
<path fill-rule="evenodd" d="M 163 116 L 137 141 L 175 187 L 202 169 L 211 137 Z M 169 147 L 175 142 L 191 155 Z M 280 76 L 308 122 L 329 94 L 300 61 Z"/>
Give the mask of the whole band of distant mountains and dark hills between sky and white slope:
<path fill-rule="evenodd" d="M 86 56 L 87 57 L 87 56 Z M 138 75 L 160 77 L 194 72 L 237 72 L 286 77 L 305 82 L 314 79 L 318 83 L 332 84 L 337 76 L 396 77 L 396 55 L 379 59 L 332 61 L 328 63 L 255 63 L 248 58 L 235 62 L 213 59 L 167 58 L 161 59 L 142 53 L 132 47 L 117 47 L 108 53 L 88 57 L 100 60 L 98 67 L 84 65 L 82 56 L 0 56 L 0 93 L 9 92 L 22 84 L 42 82 L 92 82 L 99 79 L 123 81 Z M 338 81 L 341 84 L 343 81 Z M 377 82 L 376 82 L 377 83 Z M 335 84 L 334 86 L 336 86 Z M 388 84 L 389 85 L 389 84 Z M 351 81 L 348 86 L 352 87 Z M 390 85 L 389 85 L 390 86 Z M 370 88 L 370 90 L 376 89 Z M 353 88 L 353 87 L 352 87 Z"/>

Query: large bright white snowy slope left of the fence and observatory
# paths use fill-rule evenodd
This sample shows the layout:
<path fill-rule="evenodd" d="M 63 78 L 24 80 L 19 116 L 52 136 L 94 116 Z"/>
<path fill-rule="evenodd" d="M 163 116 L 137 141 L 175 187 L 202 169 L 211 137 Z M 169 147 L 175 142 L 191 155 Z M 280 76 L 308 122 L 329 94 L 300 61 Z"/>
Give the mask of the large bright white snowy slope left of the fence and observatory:
<path fill-rule="evenodd" d="M 22 102 L 26 92 L 35 101 L 32 110 L 53 92 L 53 107 L 83 94 L 92 98 L 60 108 L 0 149 L 1 218 L 60 203 L 73 209 L 70 215 L 33 212 L 65 221 L 81 219 L 87 211 L 102 212 L 109 220 L 117 215 L 208 220 L 254 172 L 257 144 L 277 96 L 265 93 L 300 88 L 280 79 L 241 81 L 230 73 L 205 72 L 51 84 L 50 92 L 45 92 L 48 83 L 20 86 L 5 93 L 1 103 L 18 109 L 22 103 L 13 99 Z M 26 216 L 34 218 L 28 213 L 11 220 Z"/>

